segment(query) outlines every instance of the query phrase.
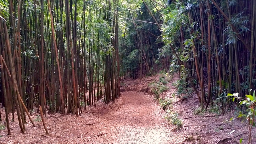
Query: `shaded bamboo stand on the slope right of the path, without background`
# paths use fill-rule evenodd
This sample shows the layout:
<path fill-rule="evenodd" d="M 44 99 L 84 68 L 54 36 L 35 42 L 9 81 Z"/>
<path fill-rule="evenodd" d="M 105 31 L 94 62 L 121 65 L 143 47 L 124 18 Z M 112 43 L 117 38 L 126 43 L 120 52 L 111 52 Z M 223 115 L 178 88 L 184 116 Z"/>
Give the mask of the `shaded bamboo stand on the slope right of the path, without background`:
<path fill-rule="evenodd" d="M 227 93 L 255 90 L 255 5 L 255 0 L 174 1 L 163 12 L 162 39 L 183 73 L 180 83 L 194 87 L 202 109 L 216 99 L 225 112 Z"/>

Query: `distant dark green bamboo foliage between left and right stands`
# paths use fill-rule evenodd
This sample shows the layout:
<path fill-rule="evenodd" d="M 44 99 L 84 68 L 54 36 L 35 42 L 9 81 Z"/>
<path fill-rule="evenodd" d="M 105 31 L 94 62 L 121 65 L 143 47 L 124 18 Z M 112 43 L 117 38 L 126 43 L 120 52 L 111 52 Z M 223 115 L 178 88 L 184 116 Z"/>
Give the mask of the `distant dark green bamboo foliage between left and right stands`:
<path fill-rule="evenodd" d="M 160 14 L 150 2 L 147 5 L 156 20 L 160 19 Z M 122 61 L 121 71 L 123 74 L 129 73 L 130 77 L 136 78 L 138 74 L 150 76 L 154 73 L 161 61 L 158 61 L 158 49 L 163 43 L 159 41 L 161 32 L 156 24 L 148 23 L 155 20 L 149 14 L 146 5 L 141 1 L 123 1 L 122 16 L 119 17 L 119 29 L 122 37 L 120 37 L 120 60 Z M 119 8 L 119 7 L 118 7 Z M 127 20 L 128 19 L 128 20 Z M 139 21 L 138 21 L 139 20 Z M 159 43 L 156 44 L 156 41 Z M 142 68 L 142 69 L 141 69 Z M 140 70 L 141 73 L 138 73 Z"/>

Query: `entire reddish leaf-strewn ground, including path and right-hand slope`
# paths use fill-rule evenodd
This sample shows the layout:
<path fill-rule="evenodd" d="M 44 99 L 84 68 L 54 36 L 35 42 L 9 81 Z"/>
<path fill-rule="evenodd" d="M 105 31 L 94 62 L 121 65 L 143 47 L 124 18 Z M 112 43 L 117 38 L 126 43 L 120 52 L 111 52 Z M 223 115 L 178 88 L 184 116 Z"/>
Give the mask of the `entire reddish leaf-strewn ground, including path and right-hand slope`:
<path fill-rule="evenodd" d="M 182 101 L 172 96 L 177 91 L 172 85 L 177 80 L 174 76 L 167 84 L 169 90 L 160 98 L 172 99 L 169 109 L 178 113 L 182 121 L 182 127 L 177 129 L 164 119 L 167 110 L 163 111 L 148 87 L 157 79 L 158 75 L 124 79 L 120 98 L 108 105 L 98 101 L 96 107 L 87 107 L 78 117 L 58 113 L 47 115 L 45 122 L 49 135 L 45 134 L 42 121 L 35 121 L 36 127 L 27 121 L 26 133 L 21 133 L 16 119 L 10 123 L 12 135 L 7 135 L 6 128 L 0 130 L 0 143 L 233 144 L 239 143 L 241 138 L 247 143 L 246 123 L 237 118 L 230 121 L 235 110 L 225 114 L 197 114 L 199 106 L 195 95 L 188 95 Z M 4 108 L 1 113 L 4 120 Z M 32 118 L 37 119 L 38 115 L 34 114 Z M 252 133 L 253 143 L 256 143 L 255 130 Z"/>

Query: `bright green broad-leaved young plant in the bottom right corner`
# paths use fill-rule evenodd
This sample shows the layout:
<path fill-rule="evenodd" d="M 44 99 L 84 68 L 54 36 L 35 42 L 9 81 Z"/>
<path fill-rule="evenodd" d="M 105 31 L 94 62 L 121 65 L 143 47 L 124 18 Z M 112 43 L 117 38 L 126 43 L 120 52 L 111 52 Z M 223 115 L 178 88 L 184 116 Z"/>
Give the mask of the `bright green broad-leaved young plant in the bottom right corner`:
<path fill-rule="evenodd" d="M 252 89 L 251 89 L 252 91 Z M 250 93 L 251 93 L 250 91 Z M 246 97 L 238 97 L 238 92 L 237 93 L 233 93 L 230 94 L 228 93 L 227 97 L 233 97 L 231 98 L 232 101 L 234 101 L 235 99 L 237 100 L 241 100 L 239 102 L 239 105 L 245 105 L 247 107 L 247 114 L 242 114 L 242 112 L 240 112 L 240 114 L 238 115 L 238 117 L 244 117 L 247 119 L 248 121 L 248 131 L 249 131 L 249 143 L 252 143 L 252 127 L 255 127 L 255 122 L 254 122 L 254 118 L 255 118 L 255 104 L 256 104 L 256 99 L 255 99 L 255 91 L 253 91 L 253 95 L 245 95 Z M 240 140 L 241 143 L 242 140 Z"/>

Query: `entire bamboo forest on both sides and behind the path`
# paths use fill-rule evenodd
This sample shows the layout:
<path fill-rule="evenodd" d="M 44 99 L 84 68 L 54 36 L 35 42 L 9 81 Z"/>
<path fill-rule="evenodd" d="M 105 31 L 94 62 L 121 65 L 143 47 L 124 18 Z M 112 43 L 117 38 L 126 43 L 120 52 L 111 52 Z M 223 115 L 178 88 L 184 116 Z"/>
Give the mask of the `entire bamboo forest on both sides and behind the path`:
<path fill-rule="evenodd" d="M 0 102 L 24 132 L 40 105 L 79 115 L 165 69 L 225 112 L 256 88 L 255 18 L 255 0 L 0 0 Z"/>

